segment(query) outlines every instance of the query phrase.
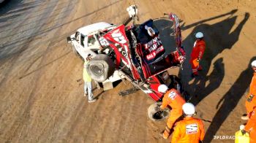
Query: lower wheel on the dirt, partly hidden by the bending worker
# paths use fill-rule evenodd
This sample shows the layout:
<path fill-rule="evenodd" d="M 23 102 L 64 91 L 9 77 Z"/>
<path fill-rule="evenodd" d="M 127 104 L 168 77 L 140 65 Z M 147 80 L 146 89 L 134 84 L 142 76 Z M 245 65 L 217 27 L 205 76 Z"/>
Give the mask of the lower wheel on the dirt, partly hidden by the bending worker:
<path fill-rule="evenodd" d="M 151 120 L 159 121 L 165 120 L 166 117 L 169 117 L 170 109 L 160 109 L 161 104 L 162 102 L 156 102 L 148 107 L 148 117 Z"/>

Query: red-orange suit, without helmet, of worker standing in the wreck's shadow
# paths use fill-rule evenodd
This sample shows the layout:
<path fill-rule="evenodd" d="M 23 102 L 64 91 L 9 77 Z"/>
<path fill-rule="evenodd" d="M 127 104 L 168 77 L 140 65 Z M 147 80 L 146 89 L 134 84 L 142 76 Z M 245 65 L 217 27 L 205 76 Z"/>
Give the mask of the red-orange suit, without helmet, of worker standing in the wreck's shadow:
<path fill-rule="evenodd" d="M 199 65 L 199 61 L 197 59 L 203 58 L 203 53 L 206 49 L 206 42 L 203 39 L 197 39 L 194 43 L 194 47 L 192 49 L 191 58 L 189 63 L 192 65 L 193 74 L 198 74 L 198 70 L 202 70 L 202 67 Z"/>

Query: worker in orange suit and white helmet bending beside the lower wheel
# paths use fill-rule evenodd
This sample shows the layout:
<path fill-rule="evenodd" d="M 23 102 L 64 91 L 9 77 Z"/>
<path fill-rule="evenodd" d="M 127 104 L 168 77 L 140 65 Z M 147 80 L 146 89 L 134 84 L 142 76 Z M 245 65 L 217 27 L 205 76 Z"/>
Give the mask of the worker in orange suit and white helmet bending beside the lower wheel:
<path fill-rule="evenodd" d="M 173 129 L 173 124 L 182 115 L 182 105 L 186 103 L 184 98 L 181 97 L 181 93 L 174 88 L 168 90 L 166 85 L 159 85 L 158 91 L 164 93 L 162 98 L 161 109 L 165 109 L 167 106 L 171 107 L 170 116 L 167 119 L 167 125 L 162 133 L 164 139 L 168 139 Z"/>

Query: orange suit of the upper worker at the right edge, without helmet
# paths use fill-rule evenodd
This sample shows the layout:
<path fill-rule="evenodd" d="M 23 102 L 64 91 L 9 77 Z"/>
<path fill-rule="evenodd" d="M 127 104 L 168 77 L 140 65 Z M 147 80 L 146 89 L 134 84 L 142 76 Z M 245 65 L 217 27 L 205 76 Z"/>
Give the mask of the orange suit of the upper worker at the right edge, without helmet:
<path fill-rule="evenodd" d="M 256 108 L 256 72 L 252 77 L 252 82 L 249 86 L 249 94 L 246 96 L 245 107 L 247 116 L 250 117 L 254 108 Z"/>

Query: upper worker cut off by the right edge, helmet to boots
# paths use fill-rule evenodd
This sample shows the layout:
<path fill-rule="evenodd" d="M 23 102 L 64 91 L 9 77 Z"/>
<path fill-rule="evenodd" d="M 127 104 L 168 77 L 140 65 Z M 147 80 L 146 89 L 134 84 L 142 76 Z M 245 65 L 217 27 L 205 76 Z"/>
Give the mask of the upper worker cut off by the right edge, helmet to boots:
<path fill-rule="evenodd" d="M 252 82 L 249 86 L 249 93 L 246 96 L 245 107 L 247 114 L 244 114 L 241 119 L 248 120 L 252 115 L 252 111 L 256 108 L 256 60 L 252 61 L 252 70 L 254 71 Z"/>

